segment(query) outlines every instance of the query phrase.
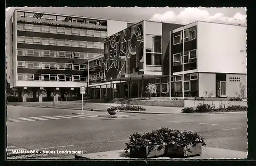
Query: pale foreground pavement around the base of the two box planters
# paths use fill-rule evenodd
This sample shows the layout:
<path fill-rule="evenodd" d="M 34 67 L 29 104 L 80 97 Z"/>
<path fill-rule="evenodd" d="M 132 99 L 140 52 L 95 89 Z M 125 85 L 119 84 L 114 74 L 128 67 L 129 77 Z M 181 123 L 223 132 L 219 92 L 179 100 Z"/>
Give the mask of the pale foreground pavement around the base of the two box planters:
<path fill-rule="evenodd" d="M 89 153 L 75 155 L 75 158 L 81 159 L 135 159 L 129 157 L 129 152 L 125 153 L 124 150 L 115 150 L 108 152 Z M 152 159 L 237 159 L 247 158 L 247 152 L 210 148 L 203 149 L 200 156 L 193 156 L 187 158 L 170 158 L 170 157 L 156 157 Z M 150 159 L 150 158 L 149 158 Z"/>

